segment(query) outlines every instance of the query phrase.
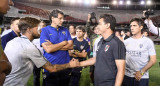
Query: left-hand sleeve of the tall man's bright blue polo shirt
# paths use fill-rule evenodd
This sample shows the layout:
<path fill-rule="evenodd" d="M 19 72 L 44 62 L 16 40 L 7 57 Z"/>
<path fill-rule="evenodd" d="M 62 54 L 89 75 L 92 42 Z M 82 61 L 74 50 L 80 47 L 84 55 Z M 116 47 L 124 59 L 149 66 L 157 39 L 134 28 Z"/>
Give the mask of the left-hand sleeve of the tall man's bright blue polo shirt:
<path fill-rule="evenodd" d="M 45 30 L 47 28 L 43 28 L 41 35 L 40 35 L 40 45 L 42 45 L 42 43 L 46 42 L 46 40 L 49 40 L 49 33 L 47 33 L 47 31 Z"/>

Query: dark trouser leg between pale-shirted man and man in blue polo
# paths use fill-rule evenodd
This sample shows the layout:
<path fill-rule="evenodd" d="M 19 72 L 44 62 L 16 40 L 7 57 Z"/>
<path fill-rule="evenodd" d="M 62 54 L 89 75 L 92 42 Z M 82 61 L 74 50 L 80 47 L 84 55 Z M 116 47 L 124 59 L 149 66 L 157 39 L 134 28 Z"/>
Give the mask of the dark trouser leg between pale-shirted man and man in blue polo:
<path fill-rule="evenodd" d="M 41 68 L 37 68 L 36 66 L 34 66 L 33 68 L 34 86 L 40 86 L 40 72 Z"/>

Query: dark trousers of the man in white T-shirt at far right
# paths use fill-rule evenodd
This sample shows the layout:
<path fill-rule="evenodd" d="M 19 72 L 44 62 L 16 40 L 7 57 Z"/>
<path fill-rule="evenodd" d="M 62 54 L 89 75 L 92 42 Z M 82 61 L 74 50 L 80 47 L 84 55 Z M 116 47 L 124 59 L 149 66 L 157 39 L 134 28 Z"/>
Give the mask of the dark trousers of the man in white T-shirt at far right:
<path fill-rule="evenodd" d="M 124 76 L 122 86 L 149 86 L 149 79 L 137 81 L 134 77 Z"/>

